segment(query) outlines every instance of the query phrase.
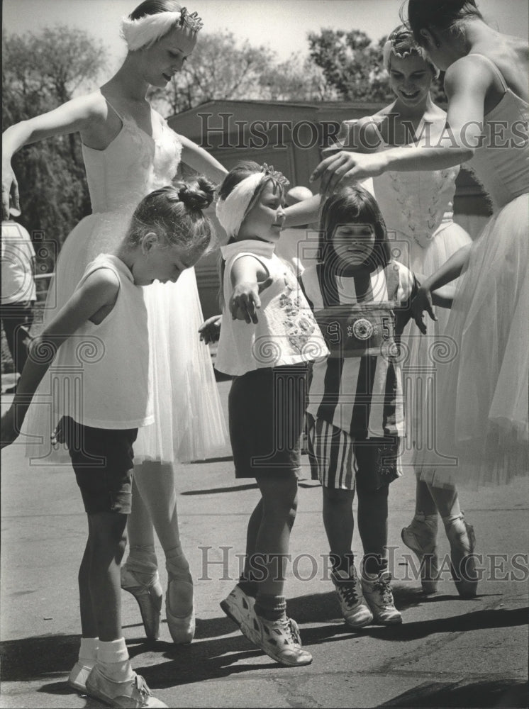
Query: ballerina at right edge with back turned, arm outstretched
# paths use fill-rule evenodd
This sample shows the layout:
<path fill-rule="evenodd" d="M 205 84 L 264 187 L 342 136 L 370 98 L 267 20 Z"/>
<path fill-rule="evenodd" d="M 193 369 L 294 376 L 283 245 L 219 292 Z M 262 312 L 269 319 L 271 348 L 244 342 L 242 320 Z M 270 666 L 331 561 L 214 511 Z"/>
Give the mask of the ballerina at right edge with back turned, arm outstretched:
<path fill-rule="evenodd" d="M 372 155 L 342 151 L 318 165 L 313 178 L 332 191 L 343 179 L 448 169 L 472 159 L 494 206 L 477 241 L 426 279 L 417 301 L 435 319 L 430 291 L 464 269 L 445 330 L 455 352 L 438 366 L 435 447 L 414 460 L 435 505 L 407 529 L 418 554 L 432 552 L 437 507 L 451 545 L 459 537 L 457 545 L 467 549 L 452 554 L 452 564 L 458 590 L 472 595 L 474 535 L 461 518 L 455 484 L 502 484 L 527 469 L 528 46 L 487 26 L 474 0 L 410 0 L 408 21 L 430 60 L 446 71 L 444 139 Z"/>

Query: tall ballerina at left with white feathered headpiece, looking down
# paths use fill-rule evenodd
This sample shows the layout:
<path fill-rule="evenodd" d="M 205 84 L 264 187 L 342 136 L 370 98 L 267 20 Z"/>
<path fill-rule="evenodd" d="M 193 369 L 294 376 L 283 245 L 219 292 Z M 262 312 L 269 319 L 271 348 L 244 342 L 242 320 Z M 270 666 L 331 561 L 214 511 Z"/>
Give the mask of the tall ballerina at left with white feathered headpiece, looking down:
<path fill-rule="evenodd" d="M 123 19 L 128 54 L 101 89 L 69 101 L 43 116 L 8 128 L 3 140 L 2 203 L 10 191 L 18 206 L 11 156 L 29 143 L 79 131 L 93 213 L 68 236 L 57 261 L 45 320 L 72 294 L 87 264 L 121 242 L 135 206 L 153 189 L 172 182 L 182 160 L 221 182 L 225 169 L 205 150 L 174 133 L 145 99 L 149 86 L 167 85 L 196 43 L 196 13 L 174 0 L 145 0 Z M 162 588 L 157 571 L 153 524 L 165 552 L 169 586 L 167 622 L 174 642 L 194 635 L 193 584 L 179 540 L 174 464 L 204 459 L 225 442 L 225 424 L 208 348 L 199 342 L 203 320 L 194 269 L 176 284 L 145 290 L 154 378 L 155 423 L 143 428 L 135 445 L 133 512 L 128 525 L 130 554 L 123 588 L 138 599 L 147 637 L 159 635 Z M 68 391 L 67 377 L 55 374 L 40 387 L 40 406 L 28 413 L 24 432 L 28 454 L 50 457 L 48 443 L 60 403 L 52 382 Z M 42 406 L 48 402 L 48 406 Z M 139 494 L 138 494 L 139 493 Z"/>

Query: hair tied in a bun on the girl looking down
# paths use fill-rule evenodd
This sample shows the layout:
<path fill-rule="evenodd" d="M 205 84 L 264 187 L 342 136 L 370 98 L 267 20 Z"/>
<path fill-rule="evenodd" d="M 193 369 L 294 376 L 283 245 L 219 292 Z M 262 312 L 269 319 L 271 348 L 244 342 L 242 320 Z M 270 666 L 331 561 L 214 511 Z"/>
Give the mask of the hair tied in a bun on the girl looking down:
<path fill-rule="evenodd" d="M 215 187 L 205 177 L 180 182 L 147 194 L 135 208 L 127 241 L 131 245 L 155 231 L 170 245 L 184 249 L 210 250 L 215 229 L 202 211 L 213 201 Z"/>

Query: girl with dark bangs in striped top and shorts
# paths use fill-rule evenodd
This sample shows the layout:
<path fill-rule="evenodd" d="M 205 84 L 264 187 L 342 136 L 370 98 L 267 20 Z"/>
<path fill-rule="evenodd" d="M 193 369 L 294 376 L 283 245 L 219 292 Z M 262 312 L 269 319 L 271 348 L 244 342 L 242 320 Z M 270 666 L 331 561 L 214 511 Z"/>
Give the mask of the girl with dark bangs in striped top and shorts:
<path fill-rule="evenodd" d="M 313 365 L 308 403 L 331 578 L 351 627 L 401 623 L 387 570 L 388 492 L 404 432 L 398 343 L 417 283 L 391 260 L 382 214 L 361 186 L 325 201 L 320 229 L 321 260 L 301 284 L 331 352 Z M 362 581 L 351 550 L 355 487 Z"/>

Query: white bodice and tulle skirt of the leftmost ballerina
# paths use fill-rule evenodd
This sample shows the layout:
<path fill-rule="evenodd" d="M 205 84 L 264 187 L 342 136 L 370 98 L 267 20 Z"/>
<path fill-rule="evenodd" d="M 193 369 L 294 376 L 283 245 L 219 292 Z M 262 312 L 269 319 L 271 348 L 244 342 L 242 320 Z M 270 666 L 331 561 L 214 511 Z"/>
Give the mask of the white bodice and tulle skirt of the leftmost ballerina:
<path fill-rule="evenodd" d="M 152 111 L 152 122 L 162 122 L 155 140 L 116 114 L 122 127 L 104 150 L 82 146 L 93 213 L 79 222 L 62 246 L 48 291 L 45 322 L 72 295 L 87 264 L 118 247 L 140 200 L 171 184 L 177 173 L 182 144 L 162 116 L 155 118 Z M 155 281 L 145 286 L 144 296 L 155 423 L 138 433 L 135 463 L 205 459 L 223 447 L 226 433 L 210 352 L 197 332 L 203 316 L 194 269 L 186 269 L 176 284 Z M 97 356 L 98 347 L 96 342 L 94 352 L 85 347 L 79 353 L 81 369 L 82 357 Z M 26 439 L 26 454 L 43 464 L 57 461 L 50 450 L 50 432 L 62 408 L 61 399 L 72 386 L 72 374 L 61 371 L 59 350 L 52 376 L 38 389 L 37 405 L 30 408 L 23 428 L 31 436 Z"/>

